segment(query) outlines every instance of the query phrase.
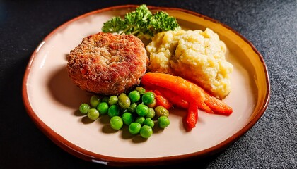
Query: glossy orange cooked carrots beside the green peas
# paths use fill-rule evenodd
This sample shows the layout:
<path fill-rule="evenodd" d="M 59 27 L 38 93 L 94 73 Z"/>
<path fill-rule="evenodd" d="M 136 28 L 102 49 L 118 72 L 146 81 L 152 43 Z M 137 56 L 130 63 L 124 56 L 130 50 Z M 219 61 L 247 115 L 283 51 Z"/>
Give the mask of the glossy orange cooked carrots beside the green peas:
<path fill-rule="evenodd" d="M 233 109 L 220 99 L 208 94 L 197 84 L 187 81 L 179 76 L 167 73 L 146 73 L 141 84 L 150 89 L 156 88 L 160 92 L 162 88 L 170 90 L 175 96 L 188 103 L 188 113 L 185 118 L 185 128 L 192 130 L 198 120 L 198 108 L 207 113 L 230 115 Z M 175 104 L 175 103 L 173 103 Z"/>

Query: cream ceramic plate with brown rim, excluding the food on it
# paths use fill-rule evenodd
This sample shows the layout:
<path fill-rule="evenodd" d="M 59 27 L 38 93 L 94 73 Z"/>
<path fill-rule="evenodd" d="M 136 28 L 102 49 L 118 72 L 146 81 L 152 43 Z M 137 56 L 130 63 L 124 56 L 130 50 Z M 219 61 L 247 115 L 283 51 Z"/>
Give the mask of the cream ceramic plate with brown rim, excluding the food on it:
<path fill-rule="evenodd" d="M 149 139 L 115 132 L 108 118 L 90 121 L 78 107 L 91 94 L 76 87 L 66 71 L 66 56 L 83 37 L 100 32 L 103 23 L 137 6 L 114 6 L 78 16 L 57 27 L 37 46 L 23 79 L 23 101 L 28 115 L 47 137 L 65 151 L 105 165 L 158 165 L 199 158 L 223 151 L 257 123 L 267 108 L 270 84 L 261 54 L 245 37 L 212 18 L 180 8 L 149 6 L 166 11 L 184 29 L 216 32 L 225 42 L 226 58 L 234 66 L 231 93 L 224 99 L 230 116 L 199 111 L 197 126 L 186 132 L 185 111 L 170 110 L 170 125 Z M 125 134 L 126 133 L 126 134 Z"/>

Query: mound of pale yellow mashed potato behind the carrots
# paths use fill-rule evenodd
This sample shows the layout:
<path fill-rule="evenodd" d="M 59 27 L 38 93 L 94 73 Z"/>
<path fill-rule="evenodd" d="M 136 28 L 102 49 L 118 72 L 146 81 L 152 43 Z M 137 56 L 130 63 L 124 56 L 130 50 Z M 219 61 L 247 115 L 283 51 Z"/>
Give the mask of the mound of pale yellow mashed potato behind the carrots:
<path fill-rule="evenodd" d="M 158 33 L 146 50 L 151 72 L 179 75 L 219 99 L 231 91 L 233 65 L 226 61 L 226 45 L 209 28 Z"/>

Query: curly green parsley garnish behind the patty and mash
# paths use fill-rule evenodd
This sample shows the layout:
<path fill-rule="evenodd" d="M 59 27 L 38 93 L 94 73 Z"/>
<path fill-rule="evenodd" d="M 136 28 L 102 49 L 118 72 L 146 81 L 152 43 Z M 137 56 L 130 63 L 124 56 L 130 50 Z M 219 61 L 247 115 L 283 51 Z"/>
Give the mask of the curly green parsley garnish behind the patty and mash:
<path fill-rule="evenodd" d="M 112 17 L 103 24 L 103 32 L 132 34 L 139 38 L 151 39 L 158 32 L 180 30 L 177 20 L 164 11 L 151 13 L 145 4 L 135 11 L 126 13 L 124 19 L 120 16 Z"/>

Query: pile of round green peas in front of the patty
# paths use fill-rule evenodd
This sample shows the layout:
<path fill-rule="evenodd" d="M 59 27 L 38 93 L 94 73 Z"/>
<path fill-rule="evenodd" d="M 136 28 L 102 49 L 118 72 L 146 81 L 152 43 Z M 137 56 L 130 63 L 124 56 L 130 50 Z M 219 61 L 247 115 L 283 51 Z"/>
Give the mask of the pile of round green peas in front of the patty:
<path fill-rule="evenodd" d="M 163 106 L 156 106 L 153 92 L 146 92 L 143 87 L 118 96 L 93 95 L 89 104 L 79 106 L 79 111 L 91 120 L 109 115 L 112 129 L 120 130 L 127 125 L 131 134 L 140 134 L 146 139 L 153 134 L 155 123 L 161 128 L 170 124 L 169 111 Z"/>

